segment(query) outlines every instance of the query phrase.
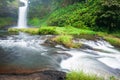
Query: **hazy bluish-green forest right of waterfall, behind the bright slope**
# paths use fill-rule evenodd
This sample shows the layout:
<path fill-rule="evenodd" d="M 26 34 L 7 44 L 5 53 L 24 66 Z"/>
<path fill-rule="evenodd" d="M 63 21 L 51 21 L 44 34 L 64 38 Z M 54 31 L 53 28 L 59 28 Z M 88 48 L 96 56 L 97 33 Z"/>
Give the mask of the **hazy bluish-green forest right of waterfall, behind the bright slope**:
<path fill-rule="evenodd" d="M 85 0 L 29 0 L 30 17 L 43 17 L 50 12 Z M 34 15 L 33 15 L 34 14 Z"/>

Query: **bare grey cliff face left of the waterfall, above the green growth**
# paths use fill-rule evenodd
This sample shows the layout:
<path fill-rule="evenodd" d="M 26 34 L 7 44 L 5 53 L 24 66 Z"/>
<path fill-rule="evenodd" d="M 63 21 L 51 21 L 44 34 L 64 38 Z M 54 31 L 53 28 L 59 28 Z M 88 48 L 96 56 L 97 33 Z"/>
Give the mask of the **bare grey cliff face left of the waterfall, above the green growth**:
<path fill-rule="evenodd" d="M 16 17 L 18 0 L 0 0 L 0 17 Z"/>

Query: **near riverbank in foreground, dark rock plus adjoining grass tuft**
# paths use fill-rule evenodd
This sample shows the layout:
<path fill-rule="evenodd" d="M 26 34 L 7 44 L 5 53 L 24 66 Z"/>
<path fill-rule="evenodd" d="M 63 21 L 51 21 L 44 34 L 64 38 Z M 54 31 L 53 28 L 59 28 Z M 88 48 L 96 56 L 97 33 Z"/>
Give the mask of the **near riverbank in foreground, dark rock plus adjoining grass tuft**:
<path fill-rule="evenodd" d="M 55 70 L 43 70 L 33 73 L 22 73 L 22 74 L 0 74 L 1 80 L 104 80 L 102 77 L 96 75 L 89 75 L 83 72 L 70 72 L 66 74 L 62 71 Z M 114 78 L 111 78 L 115 80 Z"/>

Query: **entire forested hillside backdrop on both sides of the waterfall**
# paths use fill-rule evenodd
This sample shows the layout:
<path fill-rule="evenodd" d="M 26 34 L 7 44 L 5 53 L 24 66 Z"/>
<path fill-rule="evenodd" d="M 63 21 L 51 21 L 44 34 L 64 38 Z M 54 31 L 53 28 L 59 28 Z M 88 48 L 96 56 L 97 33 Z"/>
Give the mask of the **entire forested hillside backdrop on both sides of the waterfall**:
<path fill-rule="evenodd" d="M 0 0 L 0 17 L 17 19 L 19 0 Z M 120 29 L 120 0 L 29 0 L 29 25 Z"/>

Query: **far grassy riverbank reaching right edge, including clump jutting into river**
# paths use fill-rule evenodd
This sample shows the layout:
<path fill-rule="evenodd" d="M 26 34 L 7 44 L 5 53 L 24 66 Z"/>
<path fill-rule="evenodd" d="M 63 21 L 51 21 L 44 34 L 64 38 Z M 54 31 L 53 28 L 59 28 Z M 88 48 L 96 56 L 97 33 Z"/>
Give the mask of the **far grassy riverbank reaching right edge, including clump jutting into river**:
<path fill-rule="evenodd" d="M 69 39 L 67 38 L 69 41 L 75 38 L 81 38 L 81 39 L 87 39 L 87 40 L 103 39 L 111 43 L 113 46 L 120 47 L 119 34 L 108 34 L 105 32 L 96 32 L 90 29 L 78 29 L 78 28 L 69 27 L 69 26 L 68 27 L 40 27 L 40 28 L 22 28 L 22 29 L 9 28 L 8 29 L 8 32 L 12 34 L 18 34 L 19 31 L 29 33 L 32 35 L 58 35 L 58 37 L 62 36 L 62 41 L 58 41 L 60 40 L 60 38 L 59 39 L 54 38 L 53 40 L 59 44 L 66 44 L 67 42 L 64 42 L 65 38 L 71 36 L 72 38 L 69 38 Z"/>

